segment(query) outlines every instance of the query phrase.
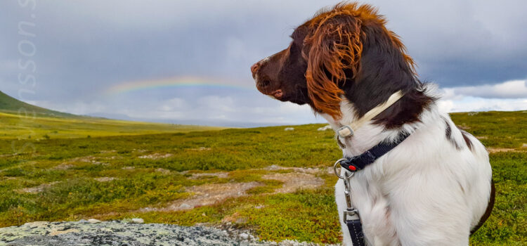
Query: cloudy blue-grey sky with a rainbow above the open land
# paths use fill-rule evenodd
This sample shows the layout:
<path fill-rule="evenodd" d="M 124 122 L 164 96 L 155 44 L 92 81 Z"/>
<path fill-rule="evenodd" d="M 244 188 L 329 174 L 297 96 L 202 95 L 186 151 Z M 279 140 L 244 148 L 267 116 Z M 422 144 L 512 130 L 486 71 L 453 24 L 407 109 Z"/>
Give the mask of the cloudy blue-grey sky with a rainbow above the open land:
<path fill-rule="evenodd" d="M 527 109 L 527 1 L 371 0 L 446 112 Z M 256 127 L 325 122 L 249 67 L 338 1 L 1 1 L 0 90 L 79 115 Z"/>

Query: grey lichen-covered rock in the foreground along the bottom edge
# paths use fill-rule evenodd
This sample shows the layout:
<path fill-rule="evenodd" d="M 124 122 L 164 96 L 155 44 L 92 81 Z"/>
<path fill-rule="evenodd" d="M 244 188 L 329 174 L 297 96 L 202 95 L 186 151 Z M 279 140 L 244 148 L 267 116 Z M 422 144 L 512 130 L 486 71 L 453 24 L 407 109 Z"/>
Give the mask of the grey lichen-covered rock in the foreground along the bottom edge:
<path fill-rule="evenodd" d="M 316 245 L 289 240 L 278 243 L 259 242 L 247 231 L 141 222 L 141 219 L 104 222 L 95 219 L 74 222 L 37 221 L 0 228 L 0 245 Z"/>

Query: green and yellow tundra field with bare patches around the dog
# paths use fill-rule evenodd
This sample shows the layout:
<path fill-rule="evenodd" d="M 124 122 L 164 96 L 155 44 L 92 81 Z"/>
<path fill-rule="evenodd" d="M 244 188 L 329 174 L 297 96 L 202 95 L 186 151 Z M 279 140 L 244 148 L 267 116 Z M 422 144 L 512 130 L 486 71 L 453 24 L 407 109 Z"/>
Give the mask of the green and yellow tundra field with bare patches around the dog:
<path fill-rule="evenodd" d="M 526 245 L 527 113 L 452 117 L 490 149 L 497 189 L 493 214 L 471 237 L 471 245 Z M 0 120 L 0 226 L 141 217 L 181 225 L 231 223 L 264 240 L 340 240 L 332 188 L 337 179 L 327 167 L 341 152 L 332 131 L 316 131 L 320 124 L 294 126 L 294 131 L 264 127 L 103 136 L 148 132 L 115 127 L 108 131 L 112 134 L 98 135 L 111 127 L 93 124 L 90 131 L 79 131 L 64 123 L 62 130 L 41 130 L 46 124 L 29 122 L 25 127 L 35 134 L 27 138 L 17 135 L 20 123 L 8 119 L 6 127 L 6 117 Z M 41 134 L 49 138 L 37 141 L 34 136 Z M 301 171 L 307 168 L 314 171 Z M 282 179 L 287 175 L 311 175 L 321 183 L 280 192 L 289 182 Z M 253 186 L 244 196 L 178 209 L 205 193 L 203 187 L 221 193 L 233 184 Z"/>

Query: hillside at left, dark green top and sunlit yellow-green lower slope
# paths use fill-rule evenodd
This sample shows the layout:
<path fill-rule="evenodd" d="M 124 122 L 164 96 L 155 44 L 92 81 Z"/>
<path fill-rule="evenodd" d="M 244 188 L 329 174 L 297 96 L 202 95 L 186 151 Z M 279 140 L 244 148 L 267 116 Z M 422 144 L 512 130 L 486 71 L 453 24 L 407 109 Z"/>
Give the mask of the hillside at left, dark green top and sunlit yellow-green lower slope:
<path fill-rule="evenodd" d="M 27 115 L 23 111 L 19 113 L 21 109 L 25 110 Z M 38 141 L 46 138 L 86 138 L 209 131 L 225 129 L 225 127 L 134 122 L 72 115 L 18 101 L 0 91 L 0 129 L 2 129 L 0 139 L 17 138 Z"/>

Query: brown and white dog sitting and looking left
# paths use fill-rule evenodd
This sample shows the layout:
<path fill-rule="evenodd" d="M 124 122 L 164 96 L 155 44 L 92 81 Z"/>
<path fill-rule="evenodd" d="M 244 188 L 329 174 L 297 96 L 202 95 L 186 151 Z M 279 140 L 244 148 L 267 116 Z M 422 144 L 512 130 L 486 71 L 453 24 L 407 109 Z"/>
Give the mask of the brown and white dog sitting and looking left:
<path fill-rule="evenodd" d="M 493 207 L 488 153 L 438 111 L 434 86 L 419 82 L 385 23 L 368 5 L 320 11 L 294 30 L 289 47 L 251 67 L 256 87 L 310 105 L 335 130 L 402 91 L 403 98 L 340 140 L 344 157 L 353 157 L 410 134 L 351 179 L 367 245 L 468 245 Z M 351 245 L 343 182 L 335 188 L 344 244 Z"/>

